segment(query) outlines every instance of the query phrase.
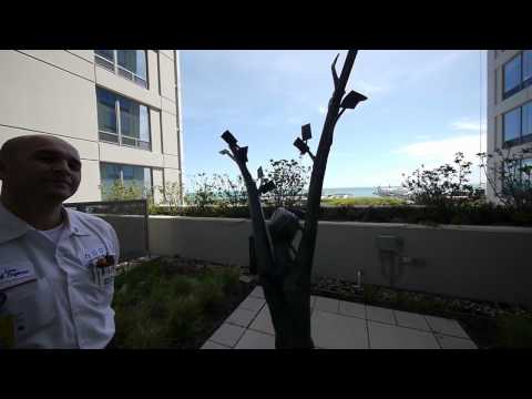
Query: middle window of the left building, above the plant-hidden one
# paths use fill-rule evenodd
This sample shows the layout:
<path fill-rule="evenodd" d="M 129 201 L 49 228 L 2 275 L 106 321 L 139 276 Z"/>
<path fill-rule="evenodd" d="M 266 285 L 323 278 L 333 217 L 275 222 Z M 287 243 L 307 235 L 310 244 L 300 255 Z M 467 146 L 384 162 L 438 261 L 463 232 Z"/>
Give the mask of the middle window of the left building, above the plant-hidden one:
<path fill-rule="evenodd" d="M 152 150 L 150 109 L 133 100 L 96 88 L 100 140 L 120 145 Z"/>

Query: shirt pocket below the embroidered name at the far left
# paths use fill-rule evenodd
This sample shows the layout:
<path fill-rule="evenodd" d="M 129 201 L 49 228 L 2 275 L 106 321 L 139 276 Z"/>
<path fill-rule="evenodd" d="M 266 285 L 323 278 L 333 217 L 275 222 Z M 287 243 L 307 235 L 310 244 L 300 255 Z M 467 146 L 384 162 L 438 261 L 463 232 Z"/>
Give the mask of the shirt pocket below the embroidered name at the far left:
<path fill-rule="evenodd" d="M 57 321 L 55 298 L 45 278 L 21 284 L 2 293 L 6 301 L 0 308 L 0 316 L 13 319 L 16 341 L 39 334 Z"/>

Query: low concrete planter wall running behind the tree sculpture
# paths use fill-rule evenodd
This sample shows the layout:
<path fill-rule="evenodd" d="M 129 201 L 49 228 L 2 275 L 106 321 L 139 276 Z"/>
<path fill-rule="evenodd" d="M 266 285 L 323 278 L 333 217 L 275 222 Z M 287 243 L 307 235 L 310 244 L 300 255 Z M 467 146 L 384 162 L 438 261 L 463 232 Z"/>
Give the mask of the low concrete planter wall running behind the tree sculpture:
<path fill-rule="evenodd" d="M 150 217 L 153 254 L 248 266 L 248 219 Z M 381 257 L 379 235 L 401 237 L 401 256 Z M 428 227 L 407 224 L 320 222 L 314 274 L 364 283 L 532 306 L 532 228 Z"/>

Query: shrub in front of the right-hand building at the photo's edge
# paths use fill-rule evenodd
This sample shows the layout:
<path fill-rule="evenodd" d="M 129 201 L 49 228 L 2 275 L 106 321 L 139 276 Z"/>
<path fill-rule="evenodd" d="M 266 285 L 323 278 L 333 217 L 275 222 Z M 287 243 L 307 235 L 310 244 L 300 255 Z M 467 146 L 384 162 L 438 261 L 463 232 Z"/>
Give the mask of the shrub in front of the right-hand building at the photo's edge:
<path fill-rule="evenodd" d="M 480 166 L 495 197 L 504 206 L 516 211 L 530 211 L 532 208 L 532 162 L 530 160 L 526 162 L 525 157 L 532 153 L 532 149 L 522 149 L 513 154 L 511 150 L 509 147 L 503 152 L 497 149 L 494 153 L 499 155 L 498 161 L 493 160 L 492 154 L 478 153 L 477 155 L 480 157 Z"/>

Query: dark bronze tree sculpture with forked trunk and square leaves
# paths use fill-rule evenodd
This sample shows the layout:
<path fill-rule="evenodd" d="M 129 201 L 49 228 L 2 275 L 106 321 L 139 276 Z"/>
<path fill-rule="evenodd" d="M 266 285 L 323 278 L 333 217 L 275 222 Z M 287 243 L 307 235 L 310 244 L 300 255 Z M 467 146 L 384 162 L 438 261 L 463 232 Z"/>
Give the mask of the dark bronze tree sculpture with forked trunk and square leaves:
<path fill-rule="evenodd" d="M 275 188 L 275 185 L 272 181 L 263 182 L 259 168 L 260 186 L 257 187 L 246 166 L 247 146 L 239 146 L 229 131 L 222 135 L 229 151 L 224 150 L 221 153 L 228 155 L 237 164 L 246 184 L 257 272 L 272 315 L 277 349 L 314 348 L 310 329 L 310 277 L 327 160 L 336 123 L 347 109 L 355 109 L 360 101 L 366 100 L 365 95 L 355 91 L 344 95 L 357 50 L 348 51 L 340 76 L 336 72 L 338 55 L 331 65 L 335 89 L 329 100 L 316 155 L 307 145 L 311 137 L 309 124 L 301 127 L 301 137 L 294 142 L 301 154 L 309 154 L 314 163 L 305 215 L 280 207 L 274 212 L 267 226 L 260 195 Z M 304 218 L 303 227 L 300 218 Z M 299 229 L 303 235 L 296 250 L 291 243 Z"/>

